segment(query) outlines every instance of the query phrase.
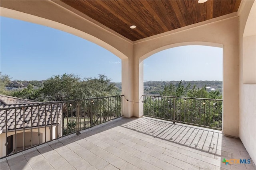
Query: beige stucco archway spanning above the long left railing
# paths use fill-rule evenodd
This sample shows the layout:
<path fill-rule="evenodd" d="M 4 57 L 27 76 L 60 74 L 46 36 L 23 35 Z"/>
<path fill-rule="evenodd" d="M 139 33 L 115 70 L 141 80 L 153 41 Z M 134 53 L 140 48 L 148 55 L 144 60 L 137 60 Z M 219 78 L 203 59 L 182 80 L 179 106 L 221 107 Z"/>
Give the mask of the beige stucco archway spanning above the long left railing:
<path fill-rule="evenodd" d="M 1 16 L 59 29 L 110 51 L 122 59 L 122 94 L 127 98 L 132 98 L 132 41 L 59 6 L 58 3 L 63 2 L 3 1 L 1 2 Z M 124 113 L 127 113 L 125 117 L 132 117 L 132 105 L 127 105 L 129 106 L 124 107 Z"/>

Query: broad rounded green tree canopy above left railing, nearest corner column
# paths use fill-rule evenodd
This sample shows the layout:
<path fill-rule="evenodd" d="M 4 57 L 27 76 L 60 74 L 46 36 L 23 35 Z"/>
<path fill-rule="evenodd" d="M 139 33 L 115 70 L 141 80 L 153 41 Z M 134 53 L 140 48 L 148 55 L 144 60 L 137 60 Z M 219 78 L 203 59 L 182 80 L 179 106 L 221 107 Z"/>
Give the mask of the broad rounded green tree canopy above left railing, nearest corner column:
<path fill-rule="evenodd" d="M 99 74 L 98 78 L 81 80 L 78 75 L 65 73 L 47 79 L 42 94 L 48 101 L 113 96 L 118 93 L 118 88 L 110 81 L 104 74 Z"/>

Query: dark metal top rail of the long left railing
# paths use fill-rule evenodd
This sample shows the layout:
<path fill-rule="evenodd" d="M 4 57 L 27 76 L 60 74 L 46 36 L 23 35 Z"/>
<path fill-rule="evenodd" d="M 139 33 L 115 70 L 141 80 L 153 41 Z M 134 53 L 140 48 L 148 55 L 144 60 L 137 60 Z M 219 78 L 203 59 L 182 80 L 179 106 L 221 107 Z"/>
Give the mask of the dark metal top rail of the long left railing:
<path fill-rule="evenodd" d="M 80 100 L 80 101 L 81 100 L 93 100 L 93 99 L 119 97 L 119 96 L 124 96 L 124 95 L 99 97 L 99 98 L 88 98 L 88 99 L 78 99 L 78 100 Z M 0 108 L 0 111 L 9 110 L 9 109 L 21 109 L 23 107 L 38 107 L 38 106 L 45 106 L 45 105 L 49 105 L 49 104 L 60 104 L 60 103 L 76 102 L 78 100 L 52 101 L 52 102 L 35 102 L 35 103 L 19 103 L 19 104 L 13 104 L 13 105 L 19 105 L 19 106 Z M 11 105 L 9 105 L 9 106 L 11 106 Z"/>

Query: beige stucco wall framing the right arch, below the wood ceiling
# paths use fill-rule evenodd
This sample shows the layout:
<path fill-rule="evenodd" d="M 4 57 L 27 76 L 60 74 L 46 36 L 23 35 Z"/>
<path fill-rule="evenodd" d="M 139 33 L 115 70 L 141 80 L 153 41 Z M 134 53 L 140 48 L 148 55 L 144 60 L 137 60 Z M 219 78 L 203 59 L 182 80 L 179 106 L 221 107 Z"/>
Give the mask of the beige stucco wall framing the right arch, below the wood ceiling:
<path fill-rule="evenodd" d="M 238 16 L 182 29 L 152 39 L 134 42 L 134 67 L 150 55 L 182 45 L 211 45 L 223 47 L 223 133 L 239 137 L 239 50 Z M 134 69 L 134 101 L 140 100 L 143 72 Z M 142 116 L 134 107 L 134 115 Z"/>

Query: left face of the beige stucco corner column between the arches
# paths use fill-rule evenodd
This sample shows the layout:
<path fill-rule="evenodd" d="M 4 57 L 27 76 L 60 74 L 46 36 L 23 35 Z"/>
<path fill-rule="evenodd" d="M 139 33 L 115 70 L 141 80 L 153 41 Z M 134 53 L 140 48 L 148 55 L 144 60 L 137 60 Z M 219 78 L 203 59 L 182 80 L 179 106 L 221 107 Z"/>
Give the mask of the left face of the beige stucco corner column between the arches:
<path fill-rule="evenodd" d="M 132 97 L 133 97 L 133 88 L 132 88 L 132 57 L 130 59 L 122 59 L 122 95 L 125 96 L 123 98 L 123 113 L 124 117 L 132 117 L 133 116 L 133 108 L 132 108 Z M 126 100 L 127 99 L 127 100 Z"/>

